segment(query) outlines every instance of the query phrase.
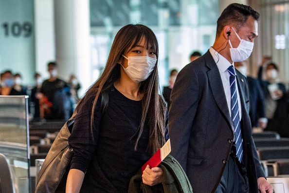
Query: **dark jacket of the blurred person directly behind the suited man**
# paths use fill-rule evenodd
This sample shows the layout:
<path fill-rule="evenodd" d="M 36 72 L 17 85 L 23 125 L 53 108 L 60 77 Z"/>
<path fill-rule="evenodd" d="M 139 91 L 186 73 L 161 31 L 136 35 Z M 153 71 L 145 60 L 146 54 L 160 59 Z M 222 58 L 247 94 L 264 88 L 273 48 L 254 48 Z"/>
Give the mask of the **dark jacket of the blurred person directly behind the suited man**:
<path fill-rule="evenodd" d="M 258 127 L 258 119 L 266 117 L 265 97 L 258 79 L 247 77 L 249 87 L 250 111 L 249 116 L 253 127 Z"/>

